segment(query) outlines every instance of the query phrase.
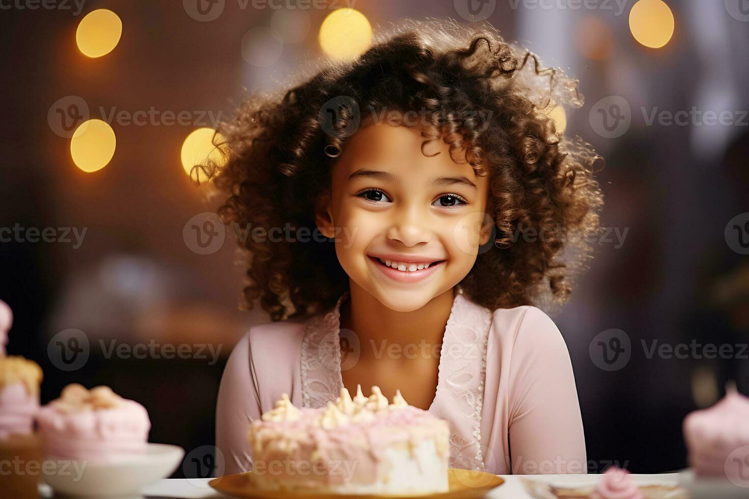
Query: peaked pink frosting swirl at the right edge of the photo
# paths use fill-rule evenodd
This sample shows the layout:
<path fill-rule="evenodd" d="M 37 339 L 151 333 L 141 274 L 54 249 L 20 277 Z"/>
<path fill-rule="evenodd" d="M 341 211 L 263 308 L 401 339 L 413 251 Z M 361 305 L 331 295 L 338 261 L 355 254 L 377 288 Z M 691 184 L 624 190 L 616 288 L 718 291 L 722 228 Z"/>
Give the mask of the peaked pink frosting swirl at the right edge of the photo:
<path fill-rule="evenodd" d="M 749 457 L 749 397 L 735 388 L 712 407 L 687 414 L 682 426 L 688 462 L 696 474 L 725 477 Z"/>

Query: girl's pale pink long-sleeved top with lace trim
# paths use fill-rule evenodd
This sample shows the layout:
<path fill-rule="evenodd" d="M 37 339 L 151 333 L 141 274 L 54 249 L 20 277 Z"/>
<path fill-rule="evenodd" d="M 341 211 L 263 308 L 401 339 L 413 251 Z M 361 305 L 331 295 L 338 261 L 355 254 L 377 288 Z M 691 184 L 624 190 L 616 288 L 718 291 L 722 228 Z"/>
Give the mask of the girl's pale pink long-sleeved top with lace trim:
<path fill-rule="evenodd" d="M 256 325 L 226 364 L 216 405 L 225 474 L 247 471 L 247 429 L 286 393 L 323 407 L 343 388 L 336 305 L 308 319 Z M 369 387 L 364 388 L 365 394 Z M 451 429 L 451 468 L 493 474 L 586 473 L 585 437 L 562 334 L 539 308 L 492 312 L 460 287 L 447 320 L 429 411 Z M 512 462 L 511 462 L 512 456 Z"/>

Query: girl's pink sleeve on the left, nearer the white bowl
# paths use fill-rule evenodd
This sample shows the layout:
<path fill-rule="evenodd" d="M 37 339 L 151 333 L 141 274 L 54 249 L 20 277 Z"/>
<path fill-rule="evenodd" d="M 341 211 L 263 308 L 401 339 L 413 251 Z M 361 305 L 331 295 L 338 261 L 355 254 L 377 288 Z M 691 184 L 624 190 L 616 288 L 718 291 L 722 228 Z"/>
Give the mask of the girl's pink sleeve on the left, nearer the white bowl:
<path fill-rule="evenodd" d="M 224 474 L 252 468 L 247 431 L 249 423 L 259 419 L 262 412 L 249 339 L 248 332 L 229 355 L 216 401 L 216 462 L 220 466 L 223 457 Z"/>

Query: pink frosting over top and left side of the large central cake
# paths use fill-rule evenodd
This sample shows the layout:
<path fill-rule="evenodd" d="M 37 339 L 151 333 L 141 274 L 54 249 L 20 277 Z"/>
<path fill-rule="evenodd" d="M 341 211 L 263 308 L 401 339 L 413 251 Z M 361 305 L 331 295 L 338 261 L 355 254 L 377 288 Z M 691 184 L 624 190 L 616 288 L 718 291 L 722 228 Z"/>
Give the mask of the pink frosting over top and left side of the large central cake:
<path fill-rule="evenodd" d="M 264 467 L 262 469 L 266 474 L 272 475 L 272 479 L 297 486 L 332 485 L 345 480 L 373 483 L 381 480 L 386 473 L 380 463 L 383 462 L 383 453 L 389 444 L 403 441 L 418 444 L 424 438 L 435 437 L 446 441 L 449 435 L 446 421 L 413 406 L 380 412 L 373 420 L 348 423 L 334 429 L 324 429 L 313 423 L 325 408 L 299 410 L 302 414 L 298 420 L 252 421 L 249 432 L 251 446 L 253 438 L 262 439 L 263 429 L 276 429 L 297 444 L 291 456 L 283 449 L 264 448 L 262 456 L 253 456 L 252 468 L 255 474 L 261 470 L 258 468 L 260 465 Z M 275 438 L 270 438 L 269 441 L 273 443 Z M 285 465 L 280 465 L 287 459 L 303 463 L 315 462 L 312 459 L 315 450 L 321 454 L 321 462 L 330 467 L 330 473 L 297 473 L 293 468 L 289 470 Z M 445 452 L 449 450 L 446 449 Z M 345 474 L 342 466 L 344 461 L 353 463 L 353 476 Z M 279 466 L 275 472 L 269 473 L 273 464 Z"/>

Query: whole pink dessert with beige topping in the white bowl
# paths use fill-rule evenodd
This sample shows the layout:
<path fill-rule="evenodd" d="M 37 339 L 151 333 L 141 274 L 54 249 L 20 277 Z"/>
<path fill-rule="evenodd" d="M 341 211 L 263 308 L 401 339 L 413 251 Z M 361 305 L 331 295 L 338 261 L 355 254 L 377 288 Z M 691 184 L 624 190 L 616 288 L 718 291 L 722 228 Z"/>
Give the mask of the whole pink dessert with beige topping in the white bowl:
<path fill-rule="evenodd" d="M 44 405 L 37 421 L 48 456 L 97 462 L 144 453 L 151 429 L 148 411 L 138 402 L 124 399 L 106 386 L 87 390 L 76 383 Z"/>

